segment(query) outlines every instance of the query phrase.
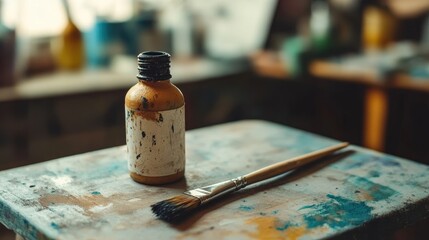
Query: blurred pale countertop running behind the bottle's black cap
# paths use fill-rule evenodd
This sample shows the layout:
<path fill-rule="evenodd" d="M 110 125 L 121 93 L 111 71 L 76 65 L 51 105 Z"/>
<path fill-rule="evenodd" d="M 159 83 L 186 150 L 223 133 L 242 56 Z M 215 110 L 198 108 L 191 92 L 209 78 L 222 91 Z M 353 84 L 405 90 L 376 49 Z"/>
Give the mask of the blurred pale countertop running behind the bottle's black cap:
<path fill-rule="evenodd" d="M 128 89 L 137 82 L 136 60 L 114 59 L 108 69 L 54 72 L 21 79 L 11 87 L 0 88 L 0 102 L 55 97 L 81 93 Z M 172 82 L 175 84 L 202 81 L 246 70 L 243 63 L 226 63 L 206 58 L 172 60 Z"/>

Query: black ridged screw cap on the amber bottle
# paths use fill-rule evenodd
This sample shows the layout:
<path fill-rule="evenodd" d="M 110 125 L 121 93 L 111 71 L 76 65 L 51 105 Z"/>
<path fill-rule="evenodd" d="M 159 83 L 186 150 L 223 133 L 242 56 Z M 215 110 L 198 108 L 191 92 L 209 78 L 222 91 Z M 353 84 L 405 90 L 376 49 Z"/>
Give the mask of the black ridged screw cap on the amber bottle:
<path fill-rule="evenodd" d="M 137 78 L 144 81 L 169 80 L 170 54 L 161 51 L 142 52 L 137 56 Z"/>

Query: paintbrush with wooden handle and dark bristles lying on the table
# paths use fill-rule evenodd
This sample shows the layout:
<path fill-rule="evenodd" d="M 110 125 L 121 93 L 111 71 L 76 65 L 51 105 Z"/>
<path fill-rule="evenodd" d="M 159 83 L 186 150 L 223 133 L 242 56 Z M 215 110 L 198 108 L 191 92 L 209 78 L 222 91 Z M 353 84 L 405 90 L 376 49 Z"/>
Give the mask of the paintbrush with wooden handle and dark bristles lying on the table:
<path fill-rule="evenodd" d="M 181 195 L 151 205 L 152 212 L 166 222 L 178 222 L 177 220 L 186 216 L 190 211 L 215 198 L 311 163 L 348 145 L 347 142 L 339 143 L 269 165 L 228 181 L 186 191 Z"/>

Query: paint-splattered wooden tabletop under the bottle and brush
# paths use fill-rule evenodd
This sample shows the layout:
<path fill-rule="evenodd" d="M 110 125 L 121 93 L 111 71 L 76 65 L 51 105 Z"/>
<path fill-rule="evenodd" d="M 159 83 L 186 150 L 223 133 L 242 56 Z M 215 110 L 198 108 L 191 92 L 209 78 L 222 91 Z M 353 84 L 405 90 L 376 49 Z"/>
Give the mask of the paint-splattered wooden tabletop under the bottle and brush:
<path fill-rule="evenodd" d="M 187 132 L 186 179 L 145 186 L 124 146 L 0 172 L 0 221 L 26 239 L 384 236 L 429 216 L 429 167 L 350 146 L 208 204 L 179 225 L 149 206 L 337 141 L 257 120 Z"/>

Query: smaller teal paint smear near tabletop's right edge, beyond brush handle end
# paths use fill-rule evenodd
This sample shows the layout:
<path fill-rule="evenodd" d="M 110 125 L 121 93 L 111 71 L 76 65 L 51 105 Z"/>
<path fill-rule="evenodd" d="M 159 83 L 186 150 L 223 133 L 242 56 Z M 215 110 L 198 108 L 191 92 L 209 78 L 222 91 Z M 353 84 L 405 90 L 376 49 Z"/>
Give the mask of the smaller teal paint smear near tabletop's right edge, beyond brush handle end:
<path fill-rule="evenodd" d="M 366 191 L 374 201 L 384 200 L 392 195 L 398 194 L 398 192 L 389 187 L 371 182 L 363 177 L 350 176 L 347 178 L 347 182 L 356 186 L 357 190 L 361 189 Z"/>

